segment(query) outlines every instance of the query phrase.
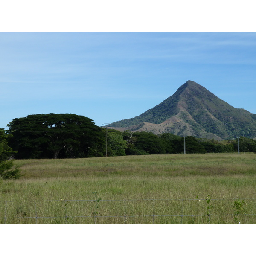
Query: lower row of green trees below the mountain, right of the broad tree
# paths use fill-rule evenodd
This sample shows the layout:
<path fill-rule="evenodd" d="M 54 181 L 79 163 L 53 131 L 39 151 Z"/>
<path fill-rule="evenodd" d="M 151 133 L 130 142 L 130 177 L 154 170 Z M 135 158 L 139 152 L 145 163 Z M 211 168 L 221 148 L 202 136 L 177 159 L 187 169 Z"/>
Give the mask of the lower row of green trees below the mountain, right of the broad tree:
<path fill-rule="evenodd" d="M 144 154 L 206 154 L 206 153 L 232 153 L 238 152 L 238 138 L 219 142 L 204 138 L 188 136 L 186 138 L 178 135 L 163 133 L 159 135 L 150 132 L 119 132 L 108 130 L 111 134 L 110 155 L 144 155 Z M 111 142 L 112 141 L 112 142 Z M 112 143 L 115 141 L 115 148 Z M 119 150 L 117 145 L 119 143 Z M 126 143 L 124 144 L 123 141 Z M 240 152 L 256 152 L 256 140 L 240 137 Z"/>

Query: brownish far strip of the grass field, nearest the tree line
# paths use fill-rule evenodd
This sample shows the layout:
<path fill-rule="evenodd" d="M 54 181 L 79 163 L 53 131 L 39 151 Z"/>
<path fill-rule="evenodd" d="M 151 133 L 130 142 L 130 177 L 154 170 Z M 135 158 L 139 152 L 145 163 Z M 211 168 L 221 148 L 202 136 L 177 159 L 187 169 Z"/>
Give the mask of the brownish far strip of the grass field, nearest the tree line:
<path fill-rule="evenodd" d="M 23 179 L 113 175 L 254 175 L 256 154 L 190 154 L 16 160 Z"/>

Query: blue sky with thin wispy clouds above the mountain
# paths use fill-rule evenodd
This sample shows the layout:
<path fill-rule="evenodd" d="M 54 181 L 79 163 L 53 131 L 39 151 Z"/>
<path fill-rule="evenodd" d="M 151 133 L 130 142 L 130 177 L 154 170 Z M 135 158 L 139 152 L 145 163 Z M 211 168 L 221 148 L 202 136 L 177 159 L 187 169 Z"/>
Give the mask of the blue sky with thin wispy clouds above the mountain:
<path fill-rule="evenodd" d="M 0 128 L 38 113 L 132 118 L 187 80 L 256 113 L 256 33 L 1 32 Z"/>

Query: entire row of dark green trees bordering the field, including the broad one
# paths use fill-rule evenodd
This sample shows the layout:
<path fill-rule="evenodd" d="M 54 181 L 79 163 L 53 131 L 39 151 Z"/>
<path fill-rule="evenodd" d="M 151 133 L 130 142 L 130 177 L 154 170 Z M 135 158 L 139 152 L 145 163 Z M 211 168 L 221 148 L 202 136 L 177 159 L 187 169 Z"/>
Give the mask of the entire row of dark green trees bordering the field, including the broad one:
<path fill-rule="evenodd" d="M 182 154 L 184 137 L 163 133 L 116 131 L 75 114 L 37 114 L 15 118 L 5 131 L 16 159 L 83 158 Z M 186 137 L 186 153 L 237 152 L 238 139 L 218 142 Z M 256 140 L 240 137 L 241 152 L 256 152 Z M 10 154 L 9 154 L 10 155 Z"/>

